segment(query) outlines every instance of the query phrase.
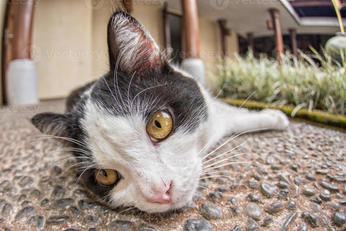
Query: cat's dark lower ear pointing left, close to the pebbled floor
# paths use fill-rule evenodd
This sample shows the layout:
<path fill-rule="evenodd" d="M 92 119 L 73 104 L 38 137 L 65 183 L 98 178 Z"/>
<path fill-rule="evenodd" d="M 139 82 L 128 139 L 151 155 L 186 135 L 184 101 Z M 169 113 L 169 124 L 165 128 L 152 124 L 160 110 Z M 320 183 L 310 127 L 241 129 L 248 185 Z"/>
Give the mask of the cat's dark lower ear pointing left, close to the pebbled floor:
<path fill-rule="evenodd" d="M 71 119 L 65 114 L 58 113 L 41 113 L 35 115 L 31 122 L 46 135 L 69 137 L 69 126 L 71 126 Z"/>

